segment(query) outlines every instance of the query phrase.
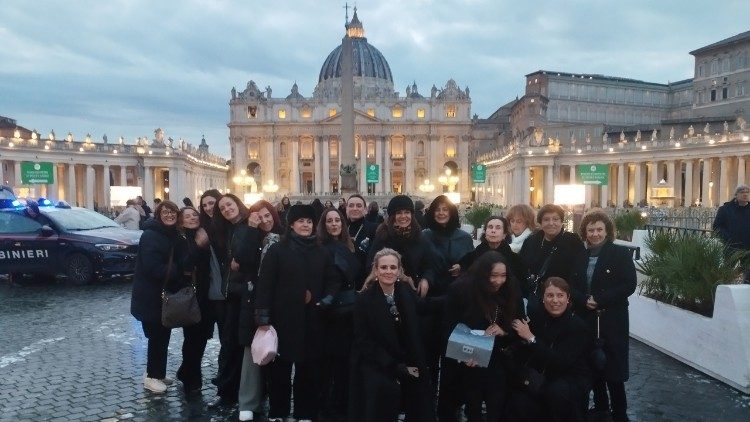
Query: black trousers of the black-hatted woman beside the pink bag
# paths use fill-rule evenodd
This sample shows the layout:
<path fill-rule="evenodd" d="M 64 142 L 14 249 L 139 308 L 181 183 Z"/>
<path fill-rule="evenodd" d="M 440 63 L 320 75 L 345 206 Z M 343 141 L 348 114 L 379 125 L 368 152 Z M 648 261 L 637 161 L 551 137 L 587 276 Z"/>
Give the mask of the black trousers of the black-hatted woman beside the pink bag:
<path fill-rule="evenodd" d="M 294 384 L 292 384 L 292 365 Z M 291 411 L 294 389 L 294 418 L 318 419 L 319 360 L 290 362 L 277 357 L 268 365 L 268 418 L 286 418 Z"/>

